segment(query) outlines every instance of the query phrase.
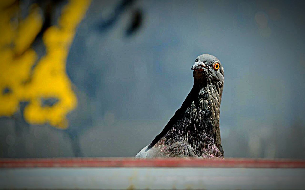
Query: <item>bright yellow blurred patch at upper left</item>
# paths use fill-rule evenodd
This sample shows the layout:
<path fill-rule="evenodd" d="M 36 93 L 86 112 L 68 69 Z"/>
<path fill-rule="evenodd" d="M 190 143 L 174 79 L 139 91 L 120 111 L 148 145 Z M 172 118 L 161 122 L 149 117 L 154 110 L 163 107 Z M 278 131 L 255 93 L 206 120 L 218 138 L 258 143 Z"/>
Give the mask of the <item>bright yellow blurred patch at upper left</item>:
<path fill-rule="evenodd" d="M 43 33 L 46 54 L 39 60 L 30 46 L 43 25 L 40 8 L 32 5 L 27 17 L 18 23 L 13 19 L 19 12 L 18 3 L 7 2 L 0 4 L 3 9 L 0 12 L 0 116 L 12 116 L 20 102 L 27 101 L 23 114 L 28 123 L 49 123 L 64 129 L 68 127 L 66 114 L 77 106 L 66 75 L 66 59 L 76 27 L 90 1 L 70 0 L 64 6 L 58 25 Z M 48 98 L 59 101 L 43 106 L 42 99 Z"/>

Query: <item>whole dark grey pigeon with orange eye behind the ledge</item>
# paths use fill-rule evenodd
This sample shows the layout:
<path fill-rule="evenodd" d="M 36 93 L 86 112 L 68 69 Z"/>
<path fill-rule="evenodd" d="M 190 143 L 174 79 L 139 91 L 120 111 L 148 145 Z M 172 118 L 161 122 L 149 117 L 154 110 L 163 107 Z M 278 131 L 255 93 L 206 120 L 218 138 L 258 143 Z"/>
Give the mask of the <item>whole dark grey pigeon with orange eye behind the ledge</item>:
<path fill-rule="evenodd" d="M 219 128 L 224 69 L 215 56 L 202 54 L 192 70 L 194 85 L 185 101 L 135 158 L 224 158 Z"/>

